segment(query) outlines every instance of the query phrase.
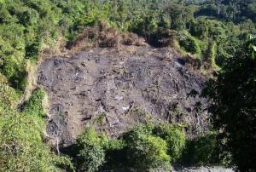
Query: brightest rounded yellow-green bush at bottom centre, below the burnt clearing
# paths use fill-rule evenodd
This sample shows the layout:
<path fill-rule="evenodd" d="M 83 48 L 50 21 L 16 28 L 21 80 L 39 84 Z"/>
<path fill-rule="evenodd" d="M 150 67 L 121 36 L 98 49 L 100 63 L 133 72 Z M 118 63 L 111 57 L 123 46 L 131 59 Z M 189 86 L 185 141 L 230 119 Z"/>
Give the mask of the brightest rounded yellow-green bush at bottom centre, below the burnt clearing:
<path fill-rule="evenodd" d="M 168 169 L 171 158 L 167 155 L 166 141 L 153 135 L 130 135 L 127 144 L 128 160 L 139 170 Z"/>

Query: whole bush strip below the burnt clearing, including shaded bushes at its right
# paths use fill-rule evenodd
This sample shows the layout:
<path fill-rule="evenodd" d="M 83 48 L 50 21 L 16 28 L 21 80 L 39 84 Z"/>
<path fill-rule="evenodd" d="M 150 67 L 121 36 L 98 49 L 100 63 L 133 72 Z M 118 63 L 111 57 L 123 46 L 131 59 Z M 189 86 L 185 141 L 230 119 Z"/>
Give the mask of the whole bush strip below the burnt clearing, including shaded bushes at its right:
<path fill-rule="evenodd" d="M 186 140 L 183 125 L 164 123 L 138 125 L 117 140 L 88 128 L 67 154 L 77 171 L 169 171 L 173 163 L 225 165 L 228 161 L 220 156 L 215 133 Z"/>

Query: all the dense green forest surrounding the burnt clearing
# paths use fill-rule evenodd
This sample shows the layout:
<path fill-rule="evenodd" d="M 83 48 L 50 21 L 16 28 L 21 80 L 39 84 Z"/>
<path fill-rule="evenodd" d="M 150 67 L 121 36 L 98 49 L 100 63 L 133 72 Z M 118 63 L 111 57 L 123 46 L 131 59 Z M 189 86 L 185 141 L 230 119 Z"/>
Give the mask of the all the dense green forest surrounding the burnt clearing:
<path fill-rule="evenodd" d="M 73 41 L 99 21 L 189 54 L 199 70 L 214 72 L 204 96 L 212 100 L 216 130 L 186 140 L 183 126 L 146 125 L 112 140 L 86 129 L 73 157 L 51 152 L 44 90 L 20 105 L 30 67 L 45 47 L 60 37 Z M 0 171 L 146 171 L 175 162 L 256 170 L 255 35 L 254 0 L 0 0 Z"/>

